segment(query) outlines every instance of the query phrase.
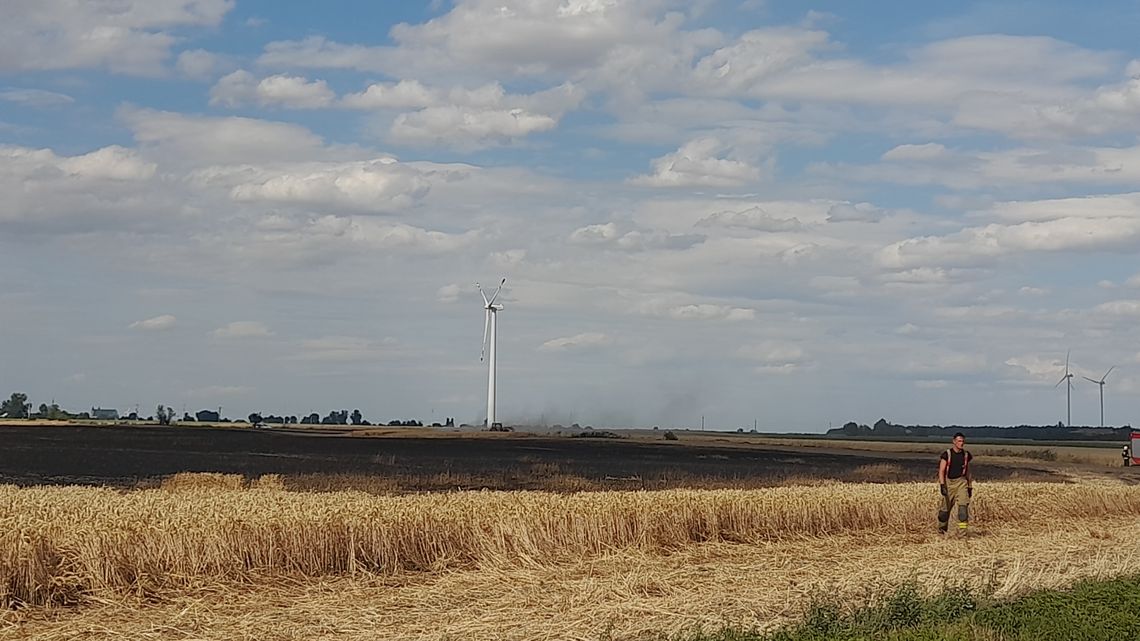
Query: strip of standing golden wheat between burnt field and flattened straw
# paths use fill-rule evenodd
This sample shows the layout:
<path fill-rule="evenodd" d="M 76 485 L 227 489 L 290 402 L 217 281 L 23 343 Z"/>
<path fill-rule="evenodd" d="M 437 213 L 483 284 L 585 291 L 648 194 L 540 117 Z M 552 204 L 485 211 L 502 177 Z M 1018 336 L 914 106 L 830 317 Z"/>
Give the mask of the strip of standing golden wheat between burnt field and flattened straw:
<path fill-rule="evenodd" d="M 1140 487 L 991 484 L 976 498 L 987 524 L 1140 514 Z M 548 567 L 699 542 L 921 534 L 936 500 L 930 484 L 416 496 L 2 486 L 0 603 L 267 576 Z"/>

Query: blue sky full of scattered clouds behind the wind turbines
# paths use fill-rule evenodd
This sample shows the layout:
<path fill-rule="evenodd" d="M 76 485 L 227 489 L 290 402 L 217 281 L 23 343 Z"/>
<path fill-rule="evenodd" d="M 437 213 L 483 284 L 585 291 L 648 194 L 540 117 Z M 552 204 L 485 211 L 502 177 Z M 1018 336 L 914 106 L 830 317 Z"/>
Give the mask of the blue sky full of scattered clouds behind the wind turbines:
<path fill-rule="evenodd" d="M 1140 7 L 6 0 L 0 395 L 819 432 L 1140 412 Z"/>

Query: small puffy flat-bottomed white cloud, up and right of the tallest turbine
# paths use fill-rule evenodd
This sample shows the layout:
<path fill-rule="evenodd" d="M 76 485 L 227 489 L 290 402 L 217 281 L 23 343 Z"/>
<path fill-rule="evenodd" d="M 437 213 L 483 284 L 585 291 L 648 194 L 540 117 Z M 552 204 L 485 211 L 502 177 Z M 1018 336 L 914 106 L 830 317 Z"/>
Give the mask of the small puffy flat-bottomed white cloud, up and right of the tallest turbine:
<path fill-rule="evenodd" d="M 718 157 L 728 149 L 711 137 L 685 143 L 671 154 L 653 161 L 653 173 L 629 179 L 648 187 L 739 187 L 762 177 L 758 167 L 742 160 Z"/>

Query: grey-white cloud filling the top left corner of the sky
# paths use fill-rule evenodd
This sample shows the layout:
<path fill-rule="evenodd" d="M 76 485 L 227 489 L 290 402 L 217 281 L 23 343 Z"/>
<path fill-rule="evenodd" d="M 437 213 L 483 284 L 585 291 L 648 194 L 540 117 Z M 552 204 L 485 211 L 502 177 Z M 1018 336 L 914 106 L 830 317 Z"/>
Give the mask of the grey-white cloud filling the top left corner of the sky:
<path fill-rule="evenodd" d="M 0 70 L 107 68 L 156 74 L 173 30 L 218 25 L 233 0 L 8 2 L 0 22 Z"/>

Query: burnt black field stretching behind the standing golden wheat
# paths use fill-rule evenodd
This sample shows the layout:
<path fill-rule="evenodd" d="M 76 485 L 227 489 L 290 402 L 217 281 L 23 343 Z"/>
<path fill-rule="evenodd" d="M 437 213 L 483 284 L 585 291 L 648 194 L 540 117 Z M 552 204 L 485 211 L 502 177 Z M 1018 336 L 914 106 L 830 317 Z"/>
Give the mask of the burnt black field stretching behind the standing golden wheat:
<path fill-rule="evenodd" d="M 531 435 L 353 437 L 202 427 L 0 425 L 0 484 L 148 487 L 178 472 L 384 478 L 408 490 L 764 487 L 793 479 L 931 480 L 933 456 Z M 697 439 L 694 439 L 697 440 Z M 731 441 L 731 438 L 723 439 Z M 985 462 L 979 479 L 1061 480 Z M 881 477 L 881 478 L 880 478 Z M 442 481 L 440 479 L 443 479 Z"/>

